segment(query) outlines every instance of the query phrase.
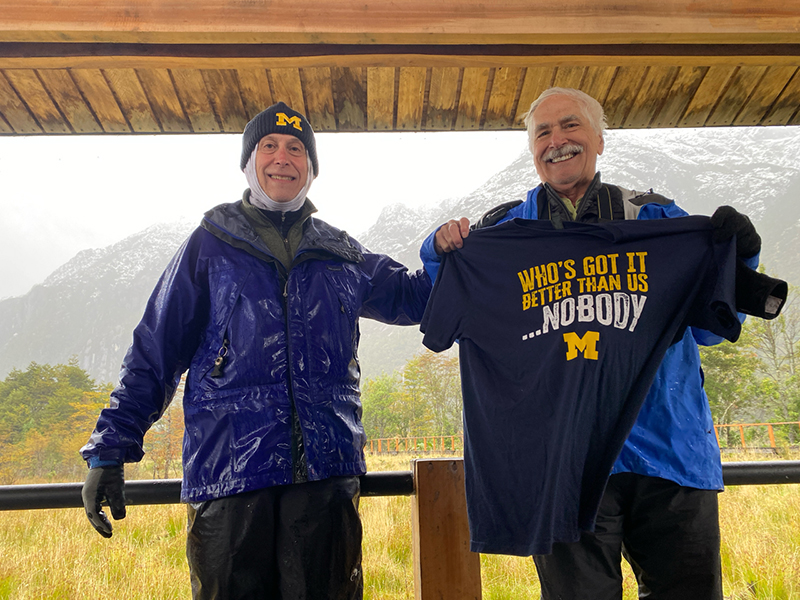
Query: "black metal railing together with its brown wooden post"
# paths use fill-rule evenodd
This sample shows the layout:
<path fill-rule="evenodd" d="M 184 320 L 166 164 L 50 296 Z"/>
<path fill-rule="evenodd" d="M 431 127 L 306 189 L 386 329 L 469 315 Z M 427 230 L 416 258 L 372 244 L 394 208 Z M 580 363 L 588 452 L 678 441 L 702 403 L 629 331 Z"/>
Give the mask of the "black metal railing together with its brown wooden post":
<path fill-rule="evenodd" d="M 418 600 L 481 597 L 479 555 L 469 551 L 462 458 L 416 459 L 412 471 L 368 473 L 363 496 L 411 496 L 414 589 Z M 726 485 L 800 483 L 800 461 L 724 463 Z M 125 483 L 129 505 L 176 504 L 180 480 Z M 77 508 L 82 483 L 0 486 L 0 510 Z"/>

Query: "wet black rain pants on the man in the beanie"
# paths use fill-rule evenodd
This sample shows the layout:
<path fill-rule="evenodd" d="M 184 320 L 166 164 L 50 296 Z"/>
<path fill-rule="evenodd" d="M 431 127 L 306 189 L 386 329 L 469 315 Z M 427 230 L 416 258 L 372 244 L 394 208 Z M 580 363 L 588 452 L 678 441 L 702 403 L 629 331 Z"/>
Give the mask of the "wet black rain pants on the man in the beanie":
<path fill-rule="evenodd" d="M 358 477 L 189 504 L 194 600 L 361 600 Z"/>

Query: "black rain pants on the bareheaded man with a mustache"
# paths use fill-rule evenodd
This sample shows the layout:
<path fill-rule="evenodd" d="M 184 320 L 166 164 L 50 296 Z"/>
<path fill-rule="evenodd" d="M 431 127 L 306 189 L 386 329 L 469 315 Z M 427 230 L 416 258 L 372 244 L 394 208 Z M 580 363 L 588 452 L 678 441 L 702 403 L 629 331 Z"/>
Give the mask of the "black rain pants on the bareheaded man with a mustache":
<path fill-rule="evenodd" d="M 534 556 L 542 600 L 620 600 L 622 556 L 648 600 L 722 600 L 716 490 L 658 477 L 609 478 L 595 531 Z"/>

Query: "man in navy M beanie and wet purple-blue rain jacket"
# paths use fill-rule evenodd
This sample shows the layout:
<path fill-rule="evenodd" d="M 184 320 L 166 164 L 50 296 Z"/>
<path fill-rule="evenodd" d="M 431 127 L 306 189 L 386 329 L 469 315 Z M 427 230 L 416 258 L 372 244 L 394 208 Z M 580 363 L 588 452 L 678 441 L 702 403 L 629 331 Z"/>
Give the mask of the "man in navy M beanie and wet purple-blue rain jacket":
<path fill-rule="evenodd" d="M 81 449 L 87 516 L 124 517 L 123 471 L 187 371 L 183 485 L 197 599 L 362 597 L 358 320 L 419 323 L 431 290 L 312 217 L 314 132 L 283 103 L 243 134 L 244 198 L 208 213 L 136 327 Z"/>

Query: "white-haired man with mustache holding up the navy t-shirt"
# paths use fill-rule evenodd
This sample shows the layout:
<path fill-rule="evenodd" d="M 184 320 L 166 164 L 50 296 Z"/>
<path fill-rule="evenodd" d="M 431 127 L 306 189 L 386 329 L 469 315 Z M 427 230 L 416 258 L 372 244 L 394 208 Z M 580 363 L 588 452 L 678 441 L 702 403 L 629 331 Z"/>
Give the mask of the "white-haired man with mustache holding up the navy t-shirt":
<path fill-rule="evenodd" d="M 687 214 L 663 196 L 601 181 L 596 163 L 604 149 L 605 117 L 601 105 L 585 93 L 548 89 L 531 105 L 525 122 L 542 184 L 524 201 L 490 210 L 477 227 L 515 217 L 558 226 Z M 758 265 L 761 240 L 747 217 L 721 207 L 711 222 L 719 239 L 736 234 L 737 255 L 751 268 Z M 452 220 L 425 241 L 421 256 L 433 279 L 440 255 L 463 247 L 469 230 L 467 219 Z M 722 466 L 697 347 L 720 341 L 689 328 L 670 346 L 613 467 L 595 531 L 583 532 L 578 542 L 554 544 L 551 554 L 534 556 L 544 600 L 620 599 L 623 555 L 636 574 L 641 598 L 722 598 L 717 505 Z"/>

